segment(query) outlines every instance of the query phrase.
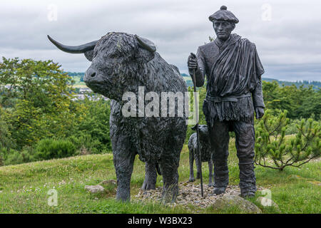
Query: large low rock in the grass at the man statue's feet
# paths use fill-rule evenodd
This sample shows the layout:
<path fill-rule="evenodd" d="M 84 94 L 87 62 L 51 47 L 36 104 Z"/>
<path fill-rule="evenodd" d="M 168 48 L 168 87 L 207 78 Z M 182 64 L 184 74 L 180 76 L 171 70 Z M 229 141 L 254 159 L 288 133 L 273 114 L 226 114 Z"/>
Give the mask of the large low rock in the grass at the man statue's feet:
<path fill-rule="evenodd" d="M 223 210 L 228 207 L 237 207 L 241 212 L 249 214 L 261 214 L 262 211 L 252 202 L 239 197 L 238 195 L 223 195 L 213 203 L 213 209 Z"/>

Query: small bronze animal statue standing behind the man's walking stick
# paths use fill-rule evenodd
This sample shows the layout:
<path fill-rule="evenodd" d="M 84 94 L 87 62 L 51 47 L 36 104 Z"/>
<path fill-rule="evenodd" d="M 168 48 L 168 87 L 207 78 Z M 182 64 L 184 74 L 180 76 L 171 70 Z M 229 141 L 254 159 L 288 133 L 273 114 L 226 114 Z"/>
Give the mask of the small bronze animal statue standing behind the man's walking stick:
<path fill-rule="evenodd" d="M 200 130 L 200 155 L 202 162 L 208 162 L 208 186 L 213 186 L 213 162 L 211 158 L 210 152 L 210 141 L 208 138 L 208 126 L 207 125 L 198 125 Z M 192 130 L 196 130 L 196 125 L 192 128 Z M 190 139 L 188 140 L 188 150 L 190 151 L 190 182 L 194 182 L 194 170 L 193 163 L 195 159 L 197 173 L 196 179 L 200 179 L 200 165 L 199 156 L 198 156 L 198 143 L 196 138 L 196 133 L 190 135 Z"/>

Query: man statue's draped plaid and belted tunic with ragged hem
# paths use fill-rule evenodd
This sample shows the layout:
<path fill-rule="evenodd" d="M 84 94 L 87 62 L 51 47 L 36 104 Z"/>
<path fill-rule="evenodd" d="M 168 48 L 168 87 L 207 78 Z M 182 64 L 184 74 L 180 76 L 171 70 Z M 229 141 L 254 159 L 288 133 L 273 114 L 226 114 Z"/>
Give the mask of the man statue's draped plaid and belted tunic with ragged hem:
<path fill-rule="evenodd" d="M 200 46 L 197 57 L 196 86 L 203 86 L 205 75 L 208 79 L 203 103 L 207 122 L 253 121 L 254 108 L 265 108 L 261 81 L 264 69 L 255 44 L 231 34 L 224 43 L 215 39 Z"/>

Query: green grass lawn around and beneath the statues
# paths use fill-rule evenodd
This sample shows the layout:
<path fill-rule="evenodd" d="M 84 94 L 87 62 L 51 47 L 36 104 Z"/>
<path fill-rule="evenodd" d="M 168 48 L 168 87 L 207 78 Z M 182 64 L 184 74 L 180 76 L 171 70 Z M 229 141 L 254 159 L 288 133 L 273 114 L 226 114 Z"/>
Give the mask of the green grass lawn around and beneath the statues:
<path fill-rule="evenodd" d="M 230 142 L 230 185 L 238 185 L 238 158 L 234 140 Z M 131 195 L 135 195 L 144 180 L 144 164 L 136 157 L 131 179 Z M 287 167 L 283 172 L 256 167 L 259 187 L 272 192 L 272 200 L 280 208 L 265 208 L 256 197 L 250 199 L 264 213 L 320 213 L 320 161 L 310 162 L 300 168 Z M 180 157 L 180 182 L 189 176 L 188 148 L 184 145 Z M 208 180 L 208 165 L 203 163 L 203 177 Z M 158 177 L 157 186 L 162 186 Z M 85 185 L 97 185 L 103 180 L 116 180 L 113 156 L 84 155 L 60 160 L 31 162 L 22 165 L 0 167 L 0 213 L 193 213 L 188 208 L 163 206 L 158 203 L 121 203 L 115 197 L 115 186 L 105 186 L 106 192 L 90 194 Z M 50 207 L 49 190 L 58 193 L 58 206 Z M 238 209 L 227 208 L 220 212 L 210 207 L 200 209 L 202 213 L 240 213 Z"/>

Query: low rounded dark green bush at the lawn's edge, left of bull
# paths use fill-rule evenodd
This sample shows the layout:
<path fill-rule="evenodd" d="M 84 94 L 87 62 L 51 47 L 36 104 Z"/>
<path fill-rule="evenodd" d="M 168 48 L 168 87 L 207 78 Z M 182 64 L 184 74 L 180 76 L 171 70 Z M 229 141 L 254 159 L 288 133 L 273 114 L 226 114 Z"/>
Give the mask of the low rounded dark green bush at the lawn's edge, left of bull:
<path fill-rule="evenodd" d="M 76 146 L 68 140 L 44 139 L 36 145 L 36 160 L 71 157 L 76 155 Z"/>

